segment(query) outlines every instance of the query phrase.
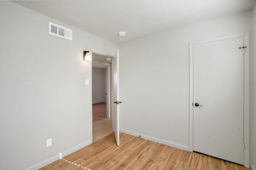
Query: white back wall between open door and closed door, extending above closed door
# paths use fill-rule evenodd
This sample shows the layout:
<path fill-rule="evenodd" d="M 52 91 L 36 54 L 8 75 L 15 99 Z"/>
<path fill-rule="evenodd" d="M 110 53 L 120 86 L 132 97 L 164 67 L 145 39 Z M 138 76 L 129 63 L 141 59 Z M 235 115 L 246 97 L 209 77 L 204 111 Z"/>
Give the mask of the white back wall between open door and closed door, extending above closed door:
<path fill-rule="evenodd" d="M 250 30 L 247 11 L 119 44 L 121 131 L 188 150 L 189 42 Z"/>

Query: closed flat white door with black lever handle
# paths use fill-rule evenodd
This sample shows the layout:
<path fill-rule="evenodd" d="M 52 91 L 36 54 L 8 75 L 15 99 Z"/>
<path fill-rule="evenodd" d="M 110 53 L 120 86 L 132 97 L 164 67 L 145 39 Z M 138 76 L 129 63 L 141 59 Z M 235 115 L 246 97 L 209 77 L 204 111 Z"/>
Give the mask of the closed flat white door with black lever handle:
<path fill-rule="evenodd" d="M 243 45 L 244 37 L 193 45 L 193 150 L 238 164 L 244 164 Z"/>

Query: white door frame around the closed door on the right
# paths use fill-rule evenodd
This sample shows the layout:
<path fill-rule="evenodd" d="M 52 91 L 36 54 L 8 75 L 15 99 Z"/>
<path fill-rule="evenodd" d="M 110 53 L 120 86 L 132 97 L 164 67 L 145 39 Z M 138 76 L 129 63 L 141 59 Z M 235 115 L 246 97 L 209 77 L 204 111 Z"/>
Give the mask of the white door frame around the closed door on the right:
<path fill-rule="evenodd" d="M 193 152 L 193 45 L 244 37 L 244 166 L 250 168 L 250 33 L 205 39 L 189 43 L 189 151 Z M 218 50 L 218 49 L 216 49 Z M 242 50 L 242 49 L 241 49 Z"/>

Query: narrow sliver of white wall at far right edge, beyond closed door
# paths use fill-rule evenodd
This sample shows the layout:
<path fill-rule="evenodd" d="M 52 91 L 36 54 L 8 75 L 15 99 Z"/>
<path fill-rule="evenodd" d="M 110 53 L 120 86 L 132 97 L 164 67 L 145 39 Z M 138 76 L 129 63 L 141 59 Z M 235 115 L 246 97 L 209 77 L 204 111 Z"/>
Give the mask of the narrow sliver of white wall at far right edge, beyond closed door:
<path fill-rule="evenodd" d="M 256 4 L 252 11 L 252 115 L 251 115 L 251 167 L 256 170 Z"/>

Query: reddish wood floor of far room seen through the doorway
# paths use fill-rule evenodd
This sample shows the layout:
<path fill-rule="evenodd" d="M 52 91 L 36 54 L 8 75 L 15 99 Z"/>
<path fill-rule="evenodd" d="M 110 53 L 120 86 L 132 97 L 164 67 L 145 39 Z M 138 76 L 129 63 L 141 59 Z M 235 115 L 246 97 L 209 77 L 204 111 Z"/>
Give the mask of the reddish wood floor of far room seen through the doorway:
<path fill-rule="evenodd" d="M 92 122 L 107 118 L 107 104 L 97 103 L 92 105 Z"/>

